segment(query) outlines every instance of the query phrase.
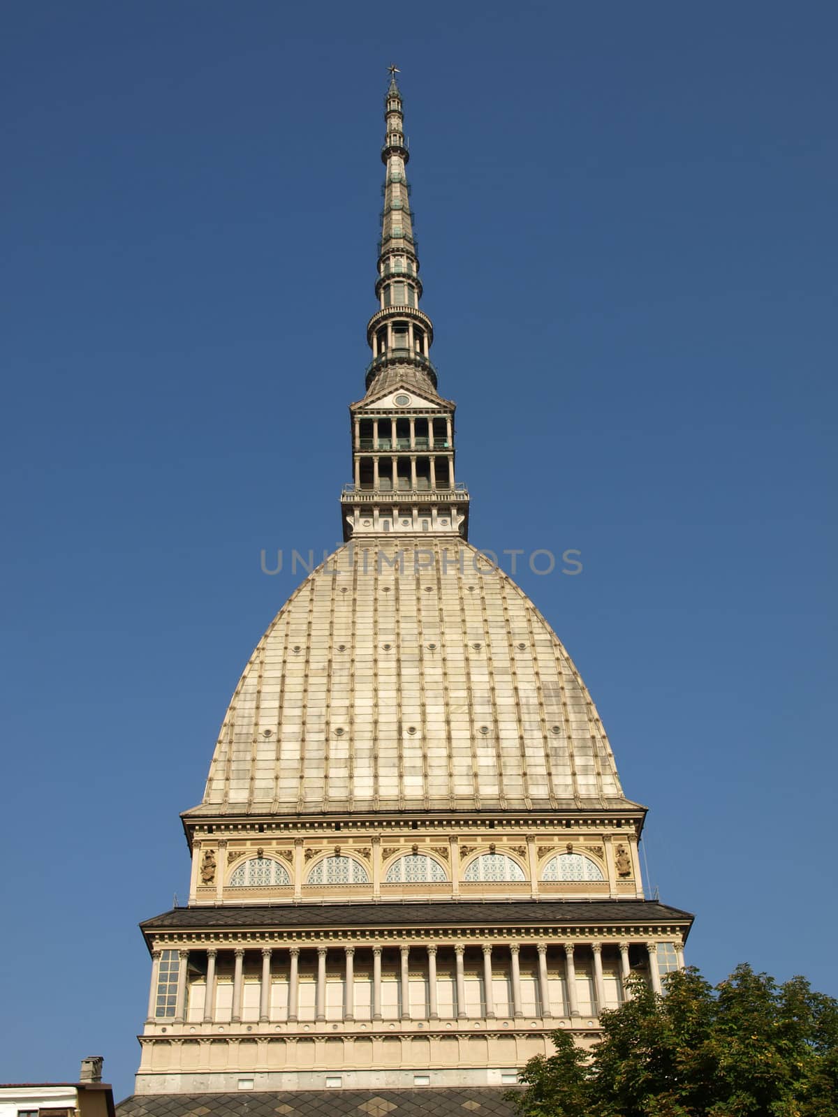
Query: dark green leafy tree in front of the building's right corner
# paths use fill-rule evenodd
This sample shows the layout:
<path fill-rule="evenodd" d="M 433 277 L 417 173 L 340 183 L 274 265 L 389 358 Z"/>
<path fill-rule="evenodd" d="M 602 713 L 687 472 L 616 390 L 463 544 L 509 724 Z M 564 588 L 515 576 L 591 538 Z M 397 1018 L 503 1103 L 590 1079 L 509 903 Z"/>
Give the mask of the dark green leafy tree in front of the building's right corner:
<path fill-rule="evenodd" d="M 565 1031 L 531 1059 L 521 1117 L 838 1117 L 838 1001 L 803 977 L 741 965 L 715 989 L 697 970 L 663 994 L 630 977 L 589 1052 Z"/>

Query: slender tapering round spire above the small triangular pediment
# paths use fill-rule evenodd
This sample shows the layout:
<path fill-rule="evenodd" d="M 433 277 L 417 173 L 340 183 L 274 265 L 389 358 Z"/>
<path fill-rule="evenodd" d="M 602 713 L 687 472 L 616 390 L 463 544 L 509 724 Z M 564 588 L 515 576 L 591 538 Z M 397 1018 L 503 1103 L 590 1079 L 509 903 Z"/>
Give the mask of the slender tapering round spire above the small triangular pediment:
<path fill-rule="evenodd" d="M 401 90 L 396 77 L 399 69 L 390 66 L 389 73 L 390 85 L 384 97 L 384 143 L 381 147 L 385 172 L 375 280 L 379 309 L 366 326 L 366 342 L 372 350 L 366 389 L 378 391 L 397 379 L 407 379 L 419 390 L 436 392 L 437 374 L 429 357 L 434 324 L 419 308 L 422 283 L 406 173 L 410 152 L 404 137 Z"/>

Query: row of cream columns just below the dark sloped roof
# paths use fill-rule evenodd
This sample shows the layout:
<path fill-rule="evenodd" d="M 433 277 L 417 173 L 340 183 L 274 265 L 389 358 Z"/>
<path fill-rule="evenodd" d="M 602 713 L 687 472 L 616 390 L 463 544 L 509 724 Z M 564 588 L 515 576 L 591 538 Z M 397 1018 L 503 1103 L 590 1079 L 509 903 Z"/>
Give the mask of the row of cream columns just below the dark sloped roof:
<path fill-rule="evenodd" d="M 456 986 L 456 1018 L 459 1020 L 466 1019 L 468 1015 L 466 1012 L 466 974 L 465 974 L 465 943 L 445 944 L 446 946 L 454 946 L 454 958 L 455 958 L 455 986 Z M 468 944 L 472 945 L 472 944 Z M 546 943 L 535 943 L 535 944 L 524 944 L 526 946 L 534 945 L 537 952 L 537 994 L 541 1005 L 541 1016 L 542 1019 L 552 1019 L 553 1013 L 550 1005 L 550 987 L 549 987 L 549 972 L 547 972 L 547 945 Z M 559 943 L 550 944 L 558 945 L 564 951 L 564 978 L 566 989 L 566 1002 L 570 1016 L 580 1015 L 580 1006 L 578 1000 L 577 990 L 577 951 L 580 947 L 590 949 L 593 962 L 593 986 L 596 992 L 597 1002 L 597 1014 L 600 1009 L 606 1004 L 606 987 L 602 971 L 602 947 L 603 945 L 617 946 L 619 948 L 619 973 L 620 978 L 625 983 L 626 978 L 631 972 L 631 965 L 629 961 L 629 946 L 635 944 L 629 944 L 627 942 L 585 942 L 585 943 Z M 657 949 L 658 943 L 647 942 L 641 944 L 646 952 L 648 975 L 653 989 L 656 993 L 661 991 L 660 985 L 660 974 L 657 961 Z M 673 944 L 675 948 L 675 955 L 677 958 L 677 965 L 679 968 L 684 966 L 684 955 L 680 943 L 676 942 Z M 501 952 L 507 952 L 508 972 L 511 976 L 511 987 L 512 987 L 512 1015 L 514 1018 L 521 1018 L 524 1013 L 523 997 L 522 997 L 522 982 L 521 982 L 521 946 L 520 943 L 511 944 L 482 944 L 480 949 L 483 952 L 483 1016 L 486 1020 L 493 1020 L 496 1016 L 495 1011 L 495 997 L 493 989 L 493 978 L 495 976 L 493 960 L 495 960 Z M 342 1019 L 344 1021 L 353 1021 L 355 1019 L 355 978 L 354 978 L 354 964 L 355 964 L 355 951 L 356 949 L 371 949 L 372 951 L 372 1003 L 371 1003 L 371 1015 L 373 1021 L 382 1020 L 382 999 L 381 999 L 381 957 L 383 946 L 374 945 L 372 947 L 358 947 L 355 945 L 343 945 L 337 947 L 331 947 L 331 949 L 339 949 L 343 952 L 343 1005 L 342 1005 Z M 254 949 L 251 947 L 251 949 Z M 261 951 L 261 972 L 259 980 L 259 1021 L 261 1023 L 267 1023 L 270 1020 L 270 985 L 272 985 L 272 962 L 275 954 L 285 953 L 288 956 L 288 1005 L 287 1005 L 287 1021 L 293 1023 L 298 1020 L 299 1015 L 299 961 L 301 952 L 316 952 L 316 970 L 315 970 L 315 1020 L 325 1021 L 326 1020 L 326 954 L 330 947 L 325 945 L 321 946 L 283 946 L 283 947 L 260 947 Z M 427 1013 L 422 1013 L 421 1019 L 438 1020 L 439 1019 L 439 1006 L 438 1006 L 438 987 L 437 987 L 437 952 L 439 946 L 437 944 L 421 944 L 421 945 L 401 945 L 398 947 L 400 962 L 398 968 L 398 981 L 400 984 L 400 1005 L 401 1005 L 401 1019 L 411 1020 L 412 1014 L 410 1011 L 410 956 L 412 952 L 423 952 L 425 962 L 428 974 L 427 984 Z M 173 1016 L 168 1015 L 168 1019 L 174 1023 L 182 1023 L 185 1021 L 187 1015 L 187 980 L 188 980 L 188 965 L 190 960 L 190 954 L 206 953 L 206 996 L 204 996 L 204 1008 L 203 1008 L 203 1021 L 204 1023 L 211 1023 L 215 1021 L 215 1005 L 216 1005 L 216 984 L 217 984 L 217 961 L 219 953 L 232 953 L 234 965 L 232 965 L 232 1005 L 230 1020 L 232 1023 L 238 1023 L 241 1021 L 242 1013 L 242 991 L 244 991 L 244 976 L 245 976 L 245 953 L 246 949 L 242 946 L 234 946 L 229 948 L 217 948 L 210 947 L 201 949 L 201 952 L 179 949 L 178 960 L 178 981 L 177 981 L 177 997 L 174 1005 Z M 151 981 L 151 994 L 149 997 L 149 1023 L 154 1023 L 155 1021 L 161 1021 L 166 1019 L 161 1012 L 160 1015 L 156 1013 L 160 1011 L 158 1009 L 158 984 L 159 984 L 159 971 L 160 971 L 160 958 L 161 951 L 154 951 L 152 954 L 152 981 Z M 171 952 L 174 953 L 173 951 Z M 505 973 L 504 966 L 504 973 Z"/>

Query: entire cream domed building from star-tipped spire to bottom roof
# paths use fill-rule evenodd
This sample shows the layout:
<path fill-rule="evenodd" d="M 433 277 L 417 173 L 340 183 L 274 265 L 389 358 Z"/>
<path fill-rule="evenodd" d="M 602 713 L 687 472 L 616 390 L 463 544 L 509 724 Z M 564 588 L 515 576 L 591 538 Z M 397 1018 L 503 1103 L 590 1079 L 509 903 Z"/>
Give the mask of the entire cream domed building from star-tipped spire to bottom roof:
<path fill-rule="evenodd" d="M 644 896 L 645 808 L 579 672 L 468 542 L 394 74 L 384 120 L 345 542 L 257 645 L 182 815 L 189 904 L 142 924 L 125 1117 L 303 1114 L 325 1091 L 366 1117 L 505 1111 L 552 1031 L 590 1043 L 631 971 L 659 989 L 683 965 L 692 916 Z"/>

